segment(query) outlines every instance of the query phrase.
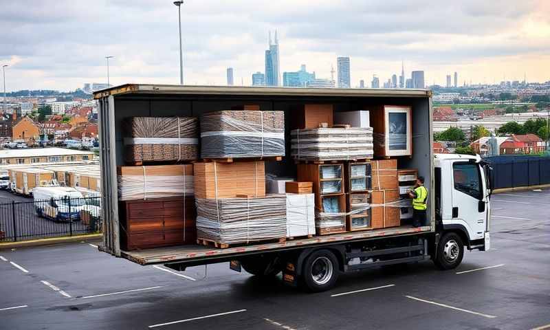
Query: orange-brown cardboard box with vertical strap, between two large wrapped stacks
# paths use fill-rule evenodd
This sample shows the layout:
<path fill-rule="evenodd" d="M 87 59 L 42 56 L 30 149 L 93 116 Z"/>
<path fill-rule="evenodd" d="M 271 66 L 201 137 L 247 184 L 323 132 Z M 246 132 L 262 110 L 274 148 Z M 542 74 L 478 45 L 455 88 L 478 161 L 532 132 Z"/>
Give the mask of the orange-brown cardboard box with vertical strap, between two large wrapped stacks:
<path fill-rule="evenodd" d="M 265 163 L 263 161 L 200 162 L 193 164 L 193 173 L 196 198 L 265 196 Z"/>

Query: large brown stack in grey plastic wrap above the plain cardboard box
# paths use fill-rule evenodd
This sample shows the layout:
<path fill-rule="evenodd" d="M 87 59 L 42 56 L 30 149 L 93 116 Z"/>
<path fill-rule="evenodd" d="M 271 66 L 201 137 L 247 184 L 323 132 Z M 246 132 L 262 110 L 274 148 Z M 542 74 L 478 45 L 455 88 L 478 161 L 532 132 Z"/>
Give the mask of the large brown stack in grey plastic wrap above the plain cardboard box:
<path fill-rule="evenodd" d="M 201 117 L 201 157 L 285 155 L 283 111 L 217 111 Z"/>

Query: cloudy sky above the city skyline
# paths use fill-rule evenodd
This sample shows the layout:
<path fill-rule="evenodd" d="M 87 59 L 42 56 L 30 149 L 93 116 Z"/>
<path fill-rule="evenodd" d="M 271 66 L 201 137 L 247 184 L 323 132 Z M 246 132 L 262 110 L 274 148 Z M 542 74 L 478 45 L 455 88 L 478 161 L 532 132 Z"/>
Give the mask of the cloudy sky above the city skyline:
<path fill-rule="evenodd" d="M 170 0 L 0 0 L 6 89 L 104 83 L 179 83 L 177 8 Z M 184 81 L 236 85 L 263 72 L 267 33 L 278 30 L 281 75 L 306 64 L 330 77 L 351 57 L 352 85 L 426 71 L 426 83 L 550 80 L 549 0 L 186 0 Z M 382 85 L 382 84 L 381 84 Z"/>

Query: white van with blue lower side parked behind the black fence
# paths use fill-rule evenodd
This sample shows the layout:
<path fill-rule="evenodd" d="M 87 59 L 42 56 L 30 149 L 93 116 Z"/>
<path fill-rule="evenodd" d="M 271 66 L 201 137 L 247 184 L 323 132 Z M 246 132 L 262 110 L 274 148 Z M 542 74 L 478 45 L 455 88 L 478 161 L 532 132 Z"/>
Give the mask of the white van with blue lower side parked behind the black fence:
<path fill-rule="evenodd" d="M 36 214 L 55 221 L 76 221 L 85 207 L 83 195 L 75 188 L 36 187 L 32 195 Z"/>

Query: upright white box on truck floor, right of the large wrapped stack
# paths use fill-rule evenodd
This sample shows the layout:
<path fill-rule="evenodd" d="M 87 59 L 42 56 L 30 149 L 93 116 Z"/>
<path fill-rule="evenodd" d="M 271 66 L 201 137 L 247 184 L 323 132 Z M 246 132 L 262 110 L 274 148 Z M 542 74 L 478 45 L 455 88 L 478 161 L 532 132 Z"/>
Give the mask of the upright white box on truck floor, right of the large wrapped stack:
<path fill-rule="evenodd" d="M 287 194 L 287 237 L 315 234 L 314 196 L 314 194 Z"/>

